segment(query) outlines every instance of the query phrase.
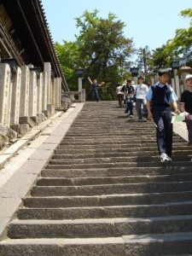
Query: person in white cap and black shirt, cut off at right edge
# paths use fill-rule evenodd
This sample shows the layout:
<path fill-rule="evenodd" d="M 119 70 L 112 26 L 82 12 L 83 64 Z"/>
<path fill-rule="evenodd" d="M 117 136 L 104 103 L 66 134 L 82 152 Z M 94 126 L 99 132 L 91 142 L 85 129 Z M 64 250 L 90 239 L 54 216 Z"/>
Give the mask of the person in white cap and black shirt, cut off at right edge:
<path fill-rule="evenodd" d="M 180 100 L 180 110 L 185 113 L 185 120 L 188 129 L 189 145 L 192 145 L 192 74 L 185 77 L 187 89 L 183 91 Z"/>

